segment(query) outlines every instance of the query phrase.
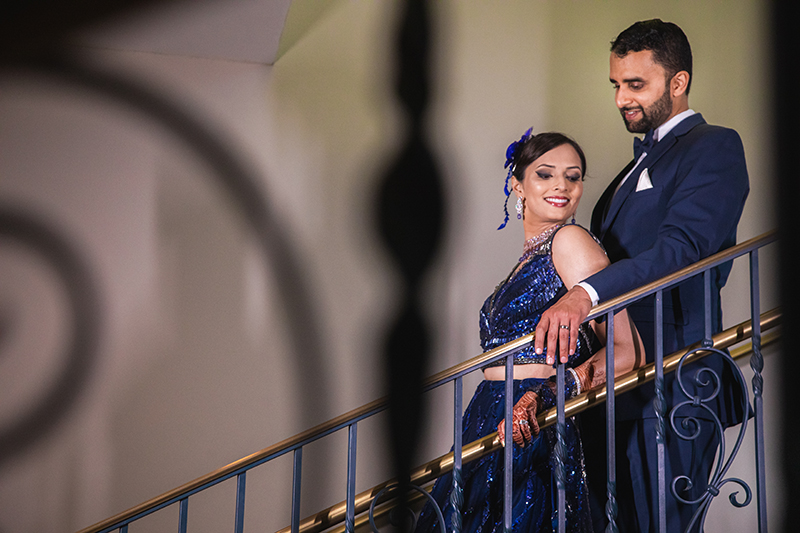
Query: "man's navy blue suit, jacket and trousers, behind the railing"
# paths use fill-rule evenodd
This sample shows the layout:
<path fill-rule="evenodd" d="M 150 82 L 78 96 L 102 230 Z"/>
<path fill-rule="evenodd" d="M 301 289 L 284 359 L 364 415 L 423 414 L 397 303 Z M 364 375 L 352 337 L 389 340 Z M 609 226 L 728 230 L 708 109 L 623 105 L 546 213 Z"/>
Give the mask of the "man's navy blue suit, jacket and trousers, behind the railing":
<path fill-rule="evenodd" d="M 608 253 L 611 265 L 589 277 L 600 301 L 654 281 L 736 243 L 736 226 L 749 191 L 744 149 L 739 135 L 709 125 L 700 114 L 676 125 L 648 152 L 614 194 L 635 161 L 611 182 L 592 214 L 591 229 Z M 652 188 L 636 191 L 644 169 Z M 730 264 L 712 274 L 712 324 L 722 328 L 719 291 L 727 280 Z M 704 336 L 703 280 L 696 276 L 663 294 L 664 354 L 701 340 Z M 628 308 L 645 345 L 646 361 L 654 359 L 655 298 L 648 297 Z M 719 356 L 710 356 L 684 371 L 684 383 L 699 365 L 714 369 L 730 384 L 730 368 Z M 665 379 L 668 408 L 682 400 L 672 376 Z M 742 418 L 742 400 L 735 387 L 723 388 L 715 412 L 725 426 Z M 708 389 L 705 389 L 706 391 Z M 706 392 L 704 397 L 708 396 Z M 657 525 L 657 456 L 655 443 L 654 386 L 649 383 L 616 399 L 617 501 L 621 531 L 655 531 Z M 686 412 L 698 415 L 699 412 Z M 604 524 L 606 501 L 605 407 L 581 415 L 587 476 L 593 492 L 592 511 L 596 530 Z M 669 492 L 677 475 L 705 476 L 710 472 L 716 435 L 703 426 L 701 438 L 687 442 L 668 430 L 667 516 L 668 528 L 685 524 L 693 509 L 678 505 Z M 697 481 L 696 477 L 692 477 Z M 704 488 L 700 487 L 702 490 Z M 699 495 L 695 486 L 693 496 Z"/>

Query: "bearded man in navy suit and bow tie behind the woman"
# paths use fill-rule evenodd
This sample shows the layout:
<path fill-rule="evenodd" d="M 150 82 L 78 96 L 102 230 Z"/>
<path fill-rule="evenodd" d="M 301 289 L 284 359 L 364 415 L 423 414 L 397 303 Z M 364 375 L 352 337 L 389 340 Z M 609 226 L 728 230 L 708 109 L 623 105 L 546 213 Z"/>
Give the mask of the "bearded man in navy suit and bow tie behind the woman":
<path fill-rule="evenodd" d="M 592 214 L 592 232 L 602 241 L 611 265 L 573 287 L 549 309 L 536 328 L 535 349 L 555 360 L 556 346 L 566 361 L 575 349 L 577 328 L 592 305 L 654 281 L 736 242 L 736 225 L 749 191 L 741 140 L 733 130 L 706 124 L 689 108 L 692 54 L 683 31 L 661 20 L 637 22 L 612 43 L 610 81 L 616 105 L 628 131 L 646 133 L 645 147 L 611 182 Z M 638 139 L 637 139 L 638 141 Z M 722 327 L 719 291 L 730 265 L 712 275 L 712 324 Z M 664 353 L 704 337 L 703 281 L 695 277 L 663 295 Z M 647 362 L 654 359 L 654 297 L 628 308 L 645 345 Z M 558 343 L 558 344 L 557 344 Z M 699 366 L 707 366 L 730 382 L 730 369 L 719 356 L 687 367 L 690 382 Z M 693 367 L 693 368 L 692 368 Z M 672 376 L 665 379 L 668 406 L 683 400 Z M 710 387 L 696 391 L 703 398 Z M 657 448 L 654 387 L 650 383 L 617 398 L 617 504 L 621 531 L 658 530 Z M 725 426 L 741 421 L 741 400 L 724 386 L 711 409 Z M 582 415 L 584 439 L 605 434 L 604 407 Z M 678 502 L 672 480 L 688 476 L 695 484 L 680 496 L 699 498 L 705 490 L 718 445 L 710 420 L 701 415 L 697 439 L 683 440 L 667 429 L 666 479 L 668 531 L 683 531 L 696 506 Z M 685 418 L 683 420 L 686 420 Z M 690 434 L 694 427 L 684 429 Z M 587 476 L 593 491 L 595 529 L 605 526 L 605 447 L 585 445 Z M 592 442 L 600 442 L 592 440 Z M 684 487 L 680 484 L 679 488 Z"/>

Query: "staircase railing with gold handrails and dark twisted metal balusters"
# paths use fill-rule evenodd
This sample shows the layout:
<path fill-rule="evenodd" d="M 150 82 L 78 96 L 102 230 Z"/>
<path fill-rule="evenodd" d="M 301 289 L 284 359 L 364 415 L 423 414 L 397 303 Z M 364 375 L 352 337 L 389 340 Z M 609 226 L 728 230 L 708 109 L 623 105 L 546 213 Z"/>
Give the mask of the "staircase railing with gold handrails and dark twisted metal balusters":
<path fill-rule="evenodd" d="M 752 339 L 751 345 L 748 348 L 739 348 L 738 353 L 741 355 L 743 353 L 750 353 L 751 354 L 751 367 L 754 370 L 755 376 L 753 378 L 753 389 L 754 389 L 754 402 L 752 405 L 754 419 L 755 419 L 755 428 L 756 428 L 756 491 L 757 491 L 757 505 L 758 505 L 758 515 L 759 515 L 759 531 L 766 531 L 766 480 L 764 475 L 765 470 L 765 461 L 764 461 L 764 437 L 763 437 L 763 407 L 762 407 L 762 400 L 761 400 L 761 388 L 762 388 L 762 377 L 761 371 L 763 369 L 763 357 L 761 355 L 761 348 L 767 342 L 772 342 L 775 336 L 771 339 L 764 339 L 762 340 L 762 331 L 766 331 L 768 329 L 775 328 L 780 322 L 780 311 L 777 309 L 773 309 L 763 315 L 760 312 L 760 292 L 759 292 L 759 270 L 758 270 L 758 250 L 774 242 L 777 239 L 776 232 L 769 232 L 765 233 L 759 237 L 750 239 L 746 242 L 738 244 L 734 247 L 731 247 L 723 252 L 715 254 L 707 259 L 699 261 L 689 267 L 686 267 L 674 274 L 666 276 L 660 280 L 657 280 L 653 283 L 645 285 L 639 289 L 635 289 L 629 293 L 626 293 L 622 296 L 609 300 L 601 305 L 595 306 L 587 320 L 591 320 L 594 318 L 602 317 L 605 315 L 605 319 L 608 321 L 609 330 L 613 330 L 613 320 L 614 320 L 614 313 L 632 302 L 639 300 L 645 296 L 649 296 L 651 294 L 656 295 L 656 302 L 657 307 L 660 305 L 660 296 L 662 291 L 685 281 L 686 279 L 694 276 L 699 275 L 703 272 L 709 271 L 711 268 L 715 266 L 721 265 L 728 261 L 731 261 L 737 257 L 749 255 L 749 266 L 750 266 L 750 291 L 751 291 L 751 319 L 741 324 L 738 324 L 732 328 L 726 329 L 725 331 L 718 333 L 716 335 L 711 335 L 711 326 L 710 326 L 710 279 L 709 276 L 706 275 L 706 340 L 698 343 L 696 345 L 687 347 L 683 350 L 679 350 L 671 354 L 668 357 L 664 357 L 663 353 L 658 353 L 661 350 L 657 350 L 656 353 L 656 361 L 653 364 L 646 365 L 639 369 L 636 369 L 628 374 L 622 375 L 614 379 L 613 376 L 613 343 L 609 342 L 607 349 L 607 368 L 608 370 L 608 383 L 607 386 L 597 388 L 591 390 L 589 392 L 583 393 L 566 403 L 559 402 L 557 408 L 550 409 L 546 412 L 541 413 L 538 416 L 539 425 L 541 428 L 553 425 L 553 424 L 563 424 L 564 419 L 567 416 L 572 416 L 588 407 L 606 401 L 607 412 L 609 413 L 609 427 L 608 430 L 608 437 L 607 442 L 611 445 L 609 446 L 609 486 L 612 486 L 613 479 L 612 476 L 614 475 L 614 428 L 613 428 L 613 420 L 614 420 L 614 406 L 613 406 L 613 398 L 615 395 L 620 394 L 624 391 L 630 390 L 632 388 L 638 387 L 643 383 L 646 383 L 651 380 L 656 381 L 656 390 L 658 395 L 659 387 L 663 387 L 663 373 L 675 370 L 680 365 L 688 364 L 691 361 L 695 361 L 708 353 L 711 350 L 723 350 L 734 346 L 744 340 Z M 609 336 L 611 333 L 609 333 Z M 657 333 L 658 335 L 658 333 Z M 440 372 L 434 376 L 431 376 L 427 380 L 425 380 L 423 391 L 429 391 L 441 385 L 447 383 L 453 383 L 454 385 L 454 393 L 455 393 L 455 408 L 454 408 L 454 453 L 450 453 L 444 455 L 426 465 L 416 469 L 412 473 L 412 483 L 421 485 L 427 483 L 434 479 L 435 477 L 449 472 L 453 469 L 460 470 L 461 465 L 463 462 L 468 462 L 474 460 L 486 453 L 491 453 L 495 451 L 498 447 L 500 447 L 500 443 L 497 439 L 497 434 L 493 433 L 490 434 L 478 441 L 473 443 L 468 443 L 462 447 L 460 442 L 461 436 L 461 396 L 462 396 L 462 378 L 469 374 L 470 372 L 476 371 L 481 367 L 485 366 L 486 364 L 498 361 L 501 359 L 505 359 L 506 361 L 506 375 L 510 377 L 512 372 L 513 365 L 513 355 L 514 353 L 518 352 L 519 350 L 527 347 L 533 340 L 533 335 L 526 335 L 520 337 L 510 343 L 507 343 L 501 347 L 498 347 L 494 350 L 490 350 L 485 352 L 477 357 L 473 357 L 472 359 L 465 361 L 459 365 L 456 365 L 452 368 L 449 368 L 443 372 Z M 736 354 L 737 350 L 734 351 Z M 558 379 L 563 383 L 564 379 L 564 367 L 563 365 L 559 365 L 557 369 Z M 510 379 L 507 378 L 507 388 L 509 390 Z M 608 395 L 607 394 L 607 387 L 613 388 L 614 394 Z M 560 390 L 563 390 L 563 387 L 559 387 Z M 506 402 L 506 424 L 508 425 L 510 422 L 510 412 L 511 412 L 511 402 L 510 402 L 510 394 L 506 394 L 507 402 Z M 236 477 L 237 479 L 237 491 L 236 491 L 236 505 L 235 505 L 235 521 L 234 521 L 234 531 L 235 533 L 241 533 L 244 531 L 244 507 L 245 507 L 245 489 L 246 489 L 246 474 L 249 470 L 264 464 L 268 461 L 286 455 L 288 453 L 293 453 L 294 459 L 294 470 L 293 470 L 293 487 L 292 487 L 292 512 L 291 512 L 291 525 L 281 530 L 281 533 L 291 532 L 291 533 L 313 533 L 318 531 L 323 531 L 328 528 L 331 528 L 337 524 L 344 522 L 345 526 L 344 529 L 348 533 L 352 532 L 356 526 L 355 522 L 355 515 L 359 513 L 363 513 L 364 511 L 368 510 L 372 505 L 373 501 L 376 499 L 376 496 L 380 496 L 380 501 L 387 501 L 392 498 L 394 495 L 392 491 L 392 486 L 394 485 L 392 481 L 388 481 L 386 483 L 382 483 L 372 489 L 362 492 L 358 495 L 355 494 L 355 456 L 356 456 L 356 449 L 357 449 L 357 425 L 360 421 L 369 418 L 375 414 L 380 413 L 381 411 L 387 408 L 387 399 L 381 398 L 375 400 L 369 404 L 366 404 L 362 407 L 354 409 L 348 413 L 345 413 L 339 417 L 336 417 L 332 420 L 329 420 L 323 424 L 320 424 L 314 428 L 311 428 L 307 431 L 304 431 L 298 435 L 295 435 L 291 438 L 288 438 L 282 442 L 279 442 L 273 446 L 265 448 L 261 451 L 258 451 L 254 454 L 251 454 L 247 457 L 244 457 L 238 461 L 235 461 L 227 466 L 224 466 L 218 470 L 210 472 L 209 474 L 197 478 L 189 483 L 181 485 L 173 490 L 170 490 L 160 496 L 156 496 L 146 502 L 143 502 L 127 511 L 119 513 L 115 516 L 112 516 L 106 520 L 98 522 L 88 528 L 81 530 L 79 533 L 106 533 L 114 530 L 119 530 L 120 533 L 127 533 L 128 525 L 132 522 L 135 522 L 147 515 L 150 515 L 160 509 L 163 509 L 167 506 L 173 504 L 179 504 L 179 520 L 178 520 L 178 531 L 180 533 L 185 533 L 187 531 L 187 524 L 188 524 L 188 500 L 189 498 L 197 494 L 200 491 L 208 489 L 218 483 Z M 657 411 L 657 414 L 659 412 Z M 661 410 L 659 416 L 665 416 L 663 409 Z M 746 424 L 742 424 L 743 430 Z M 320 513 L 317 513 L 311 517 L 308 517 L 304 520 L 300 519 L 300 483 L 301 483 L 301 471 L 302 471 L 302 451 L 303 447 L 307 446 L 308 444 L 315 442 L 319 439 L 322 439 L 334 432 L 339 430 L 348 429 L 348 479 L 347 479 L 347 496 L 346 499 L 329 509 L 326 509 Z M 505 447 L 505 452 L 507 455 L 510 453 L 511 450 L 510 446 L 510 432 L 506 435 L 508 442 L 508 446 Z M 741 442 L 741 435 L 739 440 L 737 441 L 737 446 Z M 736 449 L 734 449 L 735 455 Z M 733 459 L 733 455 L 730 457 L 730 460 L 726 462 L 729 464 L 730 461 Z M 510 455 L 509 455 L 510 457 Z M 721 458 L 720 460 L 722 460 Z M 510 469 L 506 469 L 510 472 Z M 458 476 L 455 476 L 456 478 Z M 665 491 L 665 480 L 660 480 L 661 482 L 661 490 Z M 743 482 L 742 482 L 743 483 Z M 505 480 L 505 490 L 506 495 L 510 495 L 510 479 Z M 749 494 L 749 488 L 746 489 Z M 563 502 L 564 494 L 563 488 L 559 491 L 559 499 Z M 609 498 L 614 498 L 615 495 L 613 493 L 609 494 Z M 711 496 L 709 498 L 709 502 L 713 498 Z M 510 501 L 510 498 L 507 497 L 507 500 Z M 380 502 L 378 502 L 380 503 Z M 708 502 L 704 502 L 703 506 L 704 509 L 707 511 Z M 660 522 L 662 522 L 662 531 L 666 531 L 665 527 L 665 518 L 664 518 L 664 509 L 663 505 L 660 509 Z M 608 514 L 608 513 L 607 513 Z M 613 513 L 612 513 L 613 514 Z M 561 528 L 564 527 L 564 513 L 560 512 L 559 515 L 559 525 Z M 705 517 L 705 512 L 703 512 L 702 516 L 699 520 L 703 520 Z M 510 524 L 510 513 L 507 513 L 507 523 Z M 615 517 L 609 516 L 609 522 L 613 525 Z M 362 518 L 361 520 L 366 520 L 367 518 Z M 702 525 L 702 522 L 701 522 Z"/>

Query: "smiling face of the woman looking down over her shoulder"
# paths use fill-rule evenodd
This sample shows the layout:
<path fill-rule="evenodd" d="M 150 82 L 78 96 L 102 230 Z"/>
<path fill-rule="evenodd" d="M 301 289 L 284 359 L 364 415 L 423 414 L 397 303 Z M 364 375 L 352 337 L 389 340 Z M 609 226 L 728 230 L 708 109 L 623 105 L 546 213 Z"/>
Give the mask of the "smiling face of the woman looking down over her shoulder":
<path fill-rule="evenodd" d="M 514 192 L 525 203 L 525 227 L 542 231 L 563 223 L 578 209 L 583 194 L 581 160 L 575 149 L 562 144 L 545 152 L 525 169 L 522 181 L 514 180 Z"/>

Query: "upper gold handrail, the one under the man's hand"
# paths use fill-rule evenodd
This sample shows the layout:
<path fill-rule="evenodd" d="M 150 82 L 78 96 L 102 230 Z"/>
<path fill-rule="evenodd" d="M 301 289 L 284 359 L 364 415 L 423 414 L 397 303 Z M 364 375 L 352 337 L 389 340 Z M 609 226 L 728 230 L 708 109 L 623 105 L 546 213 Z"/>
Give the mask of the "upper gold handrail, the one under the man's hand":
<path fill-rule="evenodd" d="M 698 263 L 695 263 L 684 269 L 681 269 L 678 272 L 675 272 L 674 274 L 666 276 L 660 280 L 654 281 L 653 283 L 645 285 L 639 289 L 634 289 L 628 293 L 613 298 L 601 305 L 596 305 L 591 309 L 589 317 L 600 316 L 601 314 L 607 312 L 612 308 L 615 308 L 618 305 L 624 305 L 625 303 L 629 303 L 630 301 L 633 301 L 636 298 L 639 298 L 642 295 L 645 295 L 655 290 L 660 285 L 673 283 L 675 280 L 696 273 L 702 270 L 703 268 L 707 267 L 708 265 L 732 259 L 739 254 L 746 253 L 747 250 L 759 248 L 761 246 L 764 246 L 766 244 L 775 241 L 776 239 L 777 239 L 777 231 L 773 230 L 764 233 L 759 237 L 755 237 L 741 244 L 737 244 L 736 246 L 732 246 L 731 248 L 728 248 L 726 250 L 723 250 L 722 252 L 714 254 L 711 257 L 699 261 Z M 447 370 L 444 370 L 438 374 L 429 377 L 424 381 L 423 388 L 427 390 L 428 388 L 434 386 L 437 383 L 446 381 L 452 378 L 453 376 L 456 376 L 460 373 L 467 371 L 471 367 L 477 368 L 483 366 L 490 359 L 500 356 L 501 354 L 508 354 L 515 350 L 518 350 L 528 345 L 532 340 L 533 340 L 533 334 L 529 334 L 520 337 L 516 340 L 513 340 L 507 344 L 504 344 L 503 346 L 499 346 L 494 350 L 484 352 L 481 355 L 473 357 L 472 359 L 469 359 L 459 365 L 456 365 L 454 367 L 451 367 Z M 235 475 L 237 472 L 246 470 L 251 465 L 264 462 L 269 458 L 277 457 L 278 455 L 287 453 L 292 449 L 299 447 L 301 443 L 304 443 L 309 439 L 326 435 L 337 429 L 345 427 L 347 424 L 352 423 L 355 420 L 366 418 L 371 414 L 386 409 L 387 405 L 388 405 L 388 398 L 384 396 L 383 398 L 377 399 L 364 406 L 353 409 L 352 411 L 349 411 L 341 416 L 333 418 L 327 422 L 323 422 L 322 424 L 319 424 L 293 437 L 289 437 L 288 439 L 285 439 L 273 446 L 269 446 L 267 448 L 264 448 L 263 450 L 260 450 L 242 459 L 239 459 L 238 461 L 234 461 L 233 463 L 223 466 L 222 468 L 219 468 L 217 470 L 214 470 L 213 472 L 210 472 L 195 480 L 189 481 L 188 483 L 185 483 L 175 489 L 165 492 L 164 494 L 156 496 L 155 498 L 151 498 L 146 502 L 143 502 L 135 507 L 132 507 L 110 518 L 107 518 L 106 520 L 103 520 L 87 528 L 84 528 L 80 530 L 78 533 L 97 533 L 98 531 L 102 531 L 103 529 L 106 529 L 115 524 L 129 521 L 140 514 L 143 514 L 157 507 L 164 506 L 168 502 L 173 501 L 176 498 L 180 498 L 184 494 L 195 491 L 205 485 L 214 483 L 223 478 L 231 477 Z"/>

